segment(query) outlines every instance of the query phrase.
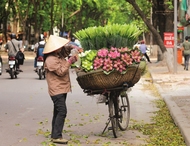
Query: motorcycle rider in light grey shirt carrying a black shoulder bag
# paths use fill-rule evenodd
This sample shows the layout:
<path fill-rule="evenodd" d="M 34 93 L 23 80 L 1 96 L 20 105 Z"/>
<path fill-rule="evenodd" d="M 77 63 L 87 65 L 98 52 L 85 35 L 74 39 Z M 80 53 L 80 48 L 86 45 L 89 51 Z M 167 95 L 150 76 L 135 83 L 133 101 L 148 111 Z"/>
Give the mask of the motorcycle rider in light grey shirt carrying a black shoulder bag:
<path fill-rule="evenodd" d="M 8 57 L 9 56 L 16 56 L 17 52 L 21 50 L 20 42 L 16 40 L 16 34 L 12 33 L 10 35 L 11 40 L 9 40 L 5 46 L 6 51 L 8 52 Z M 16 70 L 19 72 L 22 72 L 20 69 L 20 66 L 18 64 L 18 60 L 16 59 Z M 6 69 L 7 72 L 9 72 L 9 69 Z"/>

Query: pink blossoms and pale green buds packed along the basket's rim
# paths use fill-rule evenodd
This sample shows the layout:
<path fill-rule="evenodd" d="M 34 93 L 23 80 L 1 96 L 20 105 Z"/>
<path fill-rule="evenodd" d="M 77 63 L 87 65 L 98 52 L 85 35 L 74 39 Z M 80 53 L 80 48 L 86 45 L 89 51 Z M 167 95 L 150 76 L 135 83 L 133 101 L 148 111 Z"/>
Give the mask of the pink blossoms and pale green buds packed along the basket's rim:
<path fill-rule="evenodd" d="M 87 66 L 89 59 L 87 57 L 89 54 L 92 56 L 90 63 Z M 87 56 L 87 57 L 86 57 Z M 119 71 L 121 74 L 125 74 L 127 67 L 134 64 L 139 64 L 142 58 L 142 54 L 138 49 L 129 49 L 127 47 L 115 48 L 111 47 L 102 48 L 98 51 L 88 51 L 87 55 L 82 57 L 82 68 L 85 71 L 92 71 L 97 69 L 102 69 L 105 74 L 109 74 L 112 71 Z M 89 67 L 90 66 L 90 67 Z"/>

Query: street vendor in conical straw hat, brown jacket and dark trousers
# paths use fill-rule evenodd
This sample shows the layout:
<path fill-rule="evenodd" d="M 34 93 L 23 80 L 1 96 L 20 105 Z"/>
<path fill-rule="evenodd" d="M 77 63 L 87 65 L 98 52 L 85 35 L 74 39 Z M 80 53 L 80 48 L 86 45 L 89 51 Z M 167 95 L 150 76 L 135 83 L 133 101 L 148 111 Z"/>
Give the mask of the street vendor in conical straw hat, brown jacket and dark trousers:
<path fill-rule="evenodd" d="M 48 92 L 54 105 L 51 140 L 54 143 L 62 144 L 68 142 L 62 137 L 62 131 L 67 115 L 67 93 L 71 91 L 69 68 L 77 61 L 76 56 L 65 59 L 71 50 L 76 48 L 68 43 L 67 39 L 50 35 L 43 51 Z"/>

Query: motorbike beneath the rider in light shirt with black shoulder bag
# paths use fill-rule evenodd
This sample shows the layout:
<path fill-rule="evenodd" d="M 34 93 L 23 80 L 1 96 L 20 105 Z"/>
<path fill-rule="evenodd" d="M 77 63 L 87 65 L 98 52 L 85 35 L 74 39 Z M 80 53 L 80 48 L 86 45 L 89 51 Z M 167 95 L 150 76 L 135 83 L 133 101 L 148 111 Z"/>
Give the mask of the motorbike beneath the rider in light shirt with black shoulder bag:
<path fill-rule="evenodd" d="M 9 56 L 8 60 L 9 69 L 7 69 L 7 73 L 10 74 L 11 79 L 17 78 L 19 71 L 16 70 L 16 59 L 14 56 Z"/>

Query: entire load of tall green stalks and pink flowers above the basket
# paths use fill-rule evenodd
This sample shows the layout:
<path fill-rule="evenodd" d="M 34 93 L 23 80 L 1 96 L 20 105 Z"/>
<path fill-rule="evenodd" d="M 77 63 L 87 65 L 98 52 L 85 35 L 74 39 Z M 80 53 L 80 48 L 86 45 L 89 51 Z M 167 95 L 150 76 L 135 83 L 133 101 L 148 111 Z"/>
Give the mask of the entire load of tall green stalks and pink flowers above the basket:
<path fill-rule="evenodd" d="M 142 54 L 133 45 L 141 31 L 134 25 L 113 24 L 105 27 L 89 27 L 74 35 L 80 41 L 84 52 L 79 54 L 81 68 L 85 72 L 102 69 L 105 74 L 139 64 Z"/>

